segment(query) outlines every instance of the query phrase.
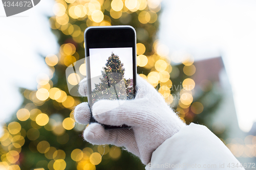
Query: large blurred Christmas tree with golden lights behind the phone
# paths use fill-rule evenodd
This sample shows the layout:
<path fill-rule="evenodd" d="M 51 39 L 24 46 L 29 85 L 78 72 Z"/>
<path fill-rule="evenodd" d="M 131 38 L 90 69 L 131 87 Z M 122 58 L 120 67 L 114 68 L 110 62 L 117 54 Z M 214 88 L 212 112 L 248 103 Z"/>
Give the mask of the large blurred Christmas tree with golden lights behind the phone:
<path fill-rule="evenodd" d="M 58 40 L 59 52 L 46 56 L 50 74 L 38 77 L 37 88 L 20 89 L 24 102 L 12 120 L 3 126 L 0 137 L 0 169 L 145 169 L 138 158 L 118 147 L 103 147 L 84 141 L 81 134 L 85 126 L 74 125 L 73 109 L 79 103 L 87 102 L 87 98 L 70 95 L 65 70 L 72 63 L 84 59 L 83 32 L 90 26 L 130 25 L 136 28 L 138 74 L 157 87 L 166 102 L 183 113 L 181 118 L 187 123 L 198 118 L 200 123 L 205 122 L 204 115 L 208 115 L 211 108 L 216 108 L 211 104 L 204 105 L 202 110 L 204 103 L 196 103 L 198 100 L 192 98 L 175 104 L 171 97 L 176 92 L 184 92 L 183 89 L 170 91 L 172 85 L 181 84 L 193 74 L 184 75 L 184 65 L 170 65 L 168 54 L 161 52 L 161 44 L 156 38 L 161 1 L 55 1 L 55 16 L 49 17 L 49 23 Z M 122 75 L 120 79 L 125 71 L 114 54 L 103 70 L 110 74 L 119 72 Z M 124 79 L 124 82 L 129 98 L 133 80 Z M 103 84 L 96 88 L 102 87 Z M 200 114 L 188 114 L 193 103 L 199 104 L 195 106 L 202 111 Z"/>

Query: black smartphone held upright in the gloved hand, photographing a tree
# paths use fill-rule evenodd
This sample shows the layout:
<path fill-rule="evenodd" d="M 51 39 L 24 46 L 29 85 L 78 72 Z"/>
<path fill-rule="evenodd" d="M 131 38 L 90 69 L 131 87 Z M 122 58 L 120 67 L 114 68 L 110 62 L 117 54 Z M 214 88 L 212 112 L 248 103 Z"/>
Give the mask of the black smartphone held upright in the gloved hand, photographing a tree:
<path fill-rule="evenodd" d="M 131 26 L 88 27 L 84 31 L 88 103 L 132 100 L 136 94 L 136 32 Z M 132 107 L 132 106 L 131 106 Z M 90 123 L 96 122 L 92 116 Z M 103 125 L 105 129 L 130 128 Z"/>

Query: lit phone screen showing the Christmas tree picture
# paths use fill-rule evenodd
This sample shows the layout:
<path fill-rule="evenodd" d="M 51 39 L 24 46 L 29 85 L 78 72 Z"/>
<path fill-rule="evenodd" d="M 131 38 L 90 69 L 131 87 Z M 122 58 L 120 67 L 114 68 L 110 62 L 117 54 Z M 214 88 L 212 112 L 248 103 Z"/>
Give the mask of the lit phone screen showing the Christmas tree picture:
<path fill-rule="evenodd" d="M 89 48 L 92 104 L 134 98 L 133 48 Z"/>

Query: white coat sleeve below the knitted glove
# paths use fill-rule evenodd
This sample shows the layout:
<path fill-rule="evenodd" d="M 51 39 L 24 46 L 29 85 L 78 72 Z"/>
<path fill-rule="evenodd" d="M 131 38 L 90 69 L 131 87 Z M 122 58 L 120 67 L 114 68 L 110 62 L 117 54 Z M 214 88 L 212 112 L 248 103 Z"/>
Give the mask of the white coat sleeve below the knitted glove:
<path fill-rule="evenodd" d="M 226 145 L 208 128 L 191 123 L 165 140 L 146 170 L 244 169 Z"/>

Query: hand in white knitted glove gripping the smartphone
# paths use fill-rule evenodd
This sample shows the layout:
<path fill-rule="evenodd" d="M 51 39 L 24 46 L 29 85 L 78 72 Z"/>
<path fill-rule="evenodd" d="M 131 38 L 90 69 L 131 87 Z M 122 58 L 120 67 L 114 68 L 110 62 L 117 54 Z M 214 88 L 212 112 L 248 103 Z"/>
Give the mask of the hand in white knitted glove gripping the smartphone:
<path fill-rule="evenodd" d="M 86 96 L 86 80 L 80 82 L 79 92 Z M 152 153 L 159 145 L 185 126 L 165 103 L 162 95 L 140 76 L 137 76 L 137 93 L 134 100 L 126 100 L 120 106 L 118 101 L 101 100 L 93 105 L 92 113 L 101 124 L 125 124 L 132 128 L 106 130 L 98 123 L 91 123 L 83 132 L 84 139 L 93 144 L 123 146 L 138 156 L 143 164 L 150 162 Z M 88 103 L 76 106 L 74 114 L 76 122 L 88 124 Z"/>

